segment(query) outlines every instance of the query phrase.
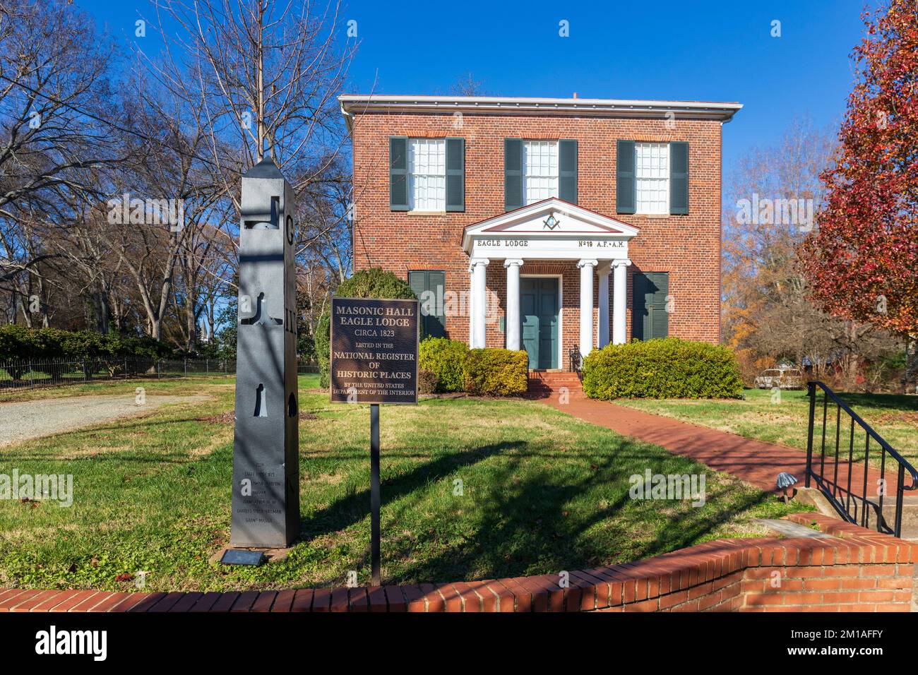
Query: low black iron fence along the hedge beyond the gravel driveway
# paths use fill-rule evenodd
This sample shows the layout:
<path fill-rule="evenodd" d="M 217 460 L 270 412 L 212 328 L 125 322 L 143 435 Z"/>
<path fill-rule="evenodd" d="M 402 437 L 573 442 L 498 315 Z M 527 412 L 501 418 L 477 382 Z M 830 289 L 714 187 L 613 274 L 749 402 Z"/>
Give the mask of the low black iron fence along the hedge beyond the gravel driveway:
<path fill-rule="evenodd" d="M 297 372 L 318 373 L 319 366 L 301 361 Z M 234 359 L 152 359 L 136 356 L 85 359 L 17 359 L 0 361 L 0 390 L 62 387 L 111 379 L 151 377 L 228 377 L 236 374 Z"/>

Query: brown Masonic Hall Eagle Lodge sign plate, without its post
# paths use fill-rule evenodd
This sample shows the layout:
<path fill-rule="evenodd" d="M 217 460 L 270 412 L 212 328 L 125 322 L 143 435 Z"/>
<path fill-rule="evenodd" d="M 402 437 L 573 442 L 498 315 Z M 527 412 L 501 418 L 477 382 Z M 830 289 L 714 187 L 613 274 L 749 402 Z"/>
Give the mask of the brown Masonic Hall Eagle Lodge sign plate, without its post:
<path fill-rule="evenodd" d="M 418 300 L 331 298 L 332 403 L 418 402 Z"/>

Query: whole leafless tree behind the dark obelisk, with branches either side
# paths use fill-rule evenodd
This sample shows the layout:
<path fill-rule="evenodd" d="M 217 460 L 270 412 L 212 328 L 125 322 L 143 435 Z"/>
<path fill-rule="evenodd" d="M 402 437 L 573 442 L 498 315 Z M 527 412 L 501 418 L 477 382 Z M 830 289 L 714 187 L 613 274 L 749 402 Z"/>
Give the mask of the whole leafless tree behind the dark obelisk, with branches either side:
<path fill-rule="evenodd" d="M 238 177 L 270 154 L 297 196 L 300 276 L 327 279 L 314 285 L 327 296 L 328 287 L 350 272 L 348 139 L 337 95 L 356 44 L 340 39 L 340 3 L 331 0 L 317 10 L 303 0 L 151 1 L 156 23 L 179 29 L 170 33 L 163 58 L 140 52 L 140 61 L 162 89 L 194 111 L 189 114 L 207 137 L 198 156 L 235 216 L 220 223 L 230 246 L 215 250 L 232 265 L 224 271 L 236 262 Z M 223 281 L 232 286 L 229 274 Z M 185 327 L 188 332 L 188 321 Z"/>

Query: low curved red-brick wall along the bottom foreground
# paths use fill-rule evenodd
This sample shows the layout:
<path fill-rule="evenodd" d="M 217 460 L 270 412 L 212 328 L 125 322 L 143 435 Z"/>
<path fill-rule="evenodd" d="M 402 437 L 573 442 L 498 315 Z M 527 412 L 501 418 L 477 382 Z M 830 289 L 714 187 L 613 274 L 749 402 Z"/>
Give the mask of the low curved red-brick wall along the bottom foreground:
<path fill-rule="evenodd" d="M 207 593 L 0 591 L 0 612 L 909 612 L 918 549 L 814 513 L 825 537 L 720 539 L 624 565 L 417 586 Z"/>

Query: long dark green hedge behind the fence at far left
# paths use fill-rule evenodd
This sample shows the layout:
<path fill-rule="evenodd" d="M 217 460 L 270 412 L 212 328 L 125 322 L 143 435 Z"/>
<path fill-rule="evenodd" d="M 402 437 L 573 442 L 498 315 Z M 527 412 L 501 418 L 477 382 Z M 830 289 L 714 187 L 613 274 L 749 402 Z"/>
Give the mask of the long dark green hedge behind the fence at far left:
<path fill-rule="evenodd" d="M 127 336 L 117 332 L 102 335 L 91 331 L 27 328 L 17 324 L 0 326 L 0 361 L 106 356 L 165 358 L 173 354 L 172 347 L 149 336 Z"/>

